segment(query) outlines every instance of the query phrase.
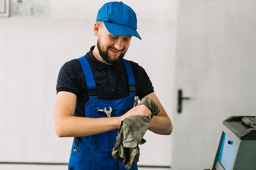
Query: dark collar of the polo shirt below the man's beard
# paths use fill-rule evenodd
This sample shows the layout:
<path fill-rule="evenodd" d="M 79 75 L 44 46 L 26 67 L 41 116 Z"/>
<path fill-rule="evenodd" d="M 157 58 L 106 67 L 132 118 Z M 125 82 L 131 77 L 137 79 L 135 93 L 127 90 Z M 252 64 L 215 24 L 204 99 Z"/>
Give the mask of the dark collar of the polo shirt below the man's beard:
<path fill-rule="evenodd" d="M 92 66 L 94 66 L 98 70 L 103 70 L 107 66 L 112 66 L 112 67 L 116 68 L 117 70 L 121 71 L 121 62 L 114 63 L 112 65 L 108 65 L 106 63 L 103 63 L 103 62 L 100 62 L 99 60 L 97 60 L 96 57 L 94 57 L 94 55 L 92 53 L 92 50 L 94 49 L 94 47 L 95 46 L 92 46 L 90 51 L 88 53 L 86 53 L 86 55 L 85 55 L 87 60 L 88 60 L 88 62 L 90 64 L 92 64 Z"/>

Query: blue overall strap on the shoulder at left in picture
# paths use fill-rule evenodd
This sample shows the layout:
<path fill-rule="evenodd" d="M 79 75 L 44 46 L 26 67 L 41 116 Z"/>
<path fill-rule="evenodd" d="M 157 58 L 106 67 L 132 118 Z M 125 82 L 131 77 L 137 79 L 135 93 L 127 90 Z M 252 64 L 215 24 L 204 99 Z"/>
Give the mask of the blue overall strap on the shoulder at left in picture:
<path fill-rule="evenodd" d="M 83 56 L 78 58 L 78 60 L 81 64 L 83 75 L 87 83 L 89 99 L 98 99 L 97 87 L 96 87 L 96 84 L 92 75 L 92 70 L 91 70 L 90 64 L 88 63 L 87 58 Z"/>

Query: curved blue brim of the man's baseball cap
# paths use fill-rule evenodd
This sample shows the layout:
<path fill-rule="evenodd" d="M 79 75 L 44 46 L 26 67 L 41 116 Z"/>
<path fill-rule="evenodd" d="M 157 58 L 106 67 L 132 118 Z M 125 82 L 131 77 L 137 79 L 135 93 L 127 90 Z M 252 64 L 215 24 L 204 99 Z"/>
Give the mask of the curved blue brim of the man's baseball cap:
<path fill-rule="evenodd" d="M 105 21 L 104 21 L 104 24 L 105 24 L 108 32 L 113 35 L 132 35 L 141 40 L 139 33 L 135 29 L 133 29 L 129 26 L 113 24 L 113 23 L 109 23 L 109 22 L 105 22 Z"/>

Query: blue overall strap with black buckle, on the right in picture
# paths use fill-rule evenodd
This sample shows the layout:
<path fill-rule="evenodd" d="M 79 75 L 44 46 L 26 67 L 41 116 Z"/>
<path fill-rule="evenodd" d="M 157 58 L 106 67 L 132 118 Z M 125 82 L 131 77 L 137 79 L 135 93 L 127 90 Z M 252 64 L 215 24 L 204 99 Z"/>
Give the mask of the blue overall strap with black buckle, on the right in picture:
<path fill-rule="evenodd" d="M 123 61 L 124 61 L 124 66 L 126 67 L 127 75 L 128 75 L 130 95 L 136 95 L 135 78 L 132 71 L 131 63 L 125 59 L 123 59 Z"/>

